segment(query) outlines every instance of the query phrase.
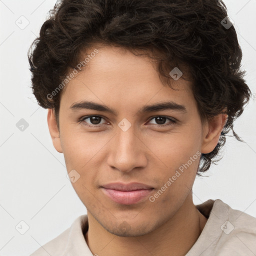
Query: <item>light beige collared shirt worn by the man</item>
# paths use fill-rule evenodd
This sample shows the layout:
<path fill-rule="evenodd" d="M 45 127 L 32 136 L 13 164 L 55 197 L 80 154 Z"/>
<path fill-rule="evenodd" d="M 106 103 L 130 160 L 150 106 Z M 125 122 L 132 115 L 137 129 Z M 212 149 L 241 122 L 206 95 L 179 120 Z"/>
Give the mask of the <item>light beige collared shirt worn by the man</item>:
<path fill-rule="evenodd" d="M 195 206 L 208 220 L 185 256 L 256 256 L 255 217 L 232 209 L 220 199 Z M 80 215 L 30 256 L 93 256 L 84 238 L 87 230 L 87 214 Z"/>

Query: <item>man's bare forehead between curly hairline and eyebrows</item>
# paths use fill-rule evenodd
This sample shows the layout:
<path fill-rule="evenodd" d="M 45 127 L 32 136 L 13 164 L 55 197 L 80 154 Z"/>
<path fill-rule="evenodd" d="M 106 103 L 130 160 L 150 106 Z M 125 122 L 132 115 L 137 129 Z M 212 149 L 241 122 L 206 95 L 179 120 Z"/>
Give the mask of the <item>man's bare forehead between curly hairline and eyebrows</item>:
<path fill-rule="evenodd" d="M 170 77 L 172 88 L 164 85 L 156 62 L 147 55 L 136 56 L 125 48 L 107 45 L 87 49 L 81 53 L 81 59 L 86 57 L 84 68 L 67 83 L 62 103 L 70 106 L 75 101 L 96 99 L 127 106 L 149 100 L 175 99 L 177 103 L 192 100 L 192 83 Z"/>

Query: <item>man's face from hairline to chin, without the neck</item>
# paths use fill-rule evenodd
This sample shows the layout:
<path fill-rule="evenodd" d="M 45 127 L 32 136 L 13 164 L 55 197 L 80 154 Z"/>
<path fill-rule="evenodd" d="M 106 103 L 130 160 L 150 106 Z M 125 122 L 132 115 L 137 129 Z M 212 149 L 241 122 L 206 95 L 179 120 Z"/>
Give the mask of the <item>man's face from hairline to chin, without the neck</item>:
<path fill-rule="evenodd" d="M 59 138 L 49 125 L 67 172 L 73 171 L 77 195 L 113 234 L 146 234 L 170 219 L 191 190 L 200 152 L 217 142 L 206 136 L 210 129 L 201 123 L 191 83 L 179 78 L 172 84 L 178 90 L 162 84 L 148 57 L 98 48 L 61 95 Z M 89 109 L 79 104 L 83 101 L 113 112 Z M 171 104 L 143 109 L 163 102 Z M 52 122 L 52 115 L 48 118 Z M 133 197 L 109 196 L 112 190 L 103 186 L 113 182 L 139 182 L 150 189 Z"/>

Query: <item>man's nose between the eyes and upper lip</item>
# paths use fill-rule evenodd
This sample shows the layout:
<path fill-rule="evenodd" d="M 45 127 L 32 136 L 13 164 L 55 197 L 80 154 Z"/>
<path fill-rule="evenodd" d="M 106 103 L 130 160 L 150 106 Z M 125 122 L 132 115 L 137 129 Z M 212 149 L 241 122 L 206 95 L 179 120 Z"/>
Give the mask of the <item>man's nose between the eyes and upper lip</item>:
<path fill-rule="evenodd" d="M 143 168 L 147 164 L 145 138 L 130 126 L 126 131 L 116 128 L 116 134 L 109 143 L 108 166 L 122 172 Z"/>

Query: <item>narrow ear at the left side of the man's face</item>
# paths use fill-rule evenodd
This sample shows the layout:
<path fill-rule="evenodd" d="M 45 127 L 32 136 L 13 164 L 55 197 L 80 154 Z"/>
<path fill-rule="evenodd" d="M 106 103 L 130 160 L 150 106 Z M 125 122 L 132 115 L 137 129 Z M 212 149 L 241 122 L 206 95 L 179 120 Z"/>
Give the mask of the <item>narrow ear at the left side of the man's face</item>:
<path fill-rule="evenodd" d="M 53 146 L 59 153 L 62 153 L 63 151 L 60 143 L 59 131 L 57 128 L 57 122 L 52 108 L 48 109 L 47 122 Z"/>

